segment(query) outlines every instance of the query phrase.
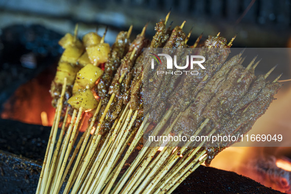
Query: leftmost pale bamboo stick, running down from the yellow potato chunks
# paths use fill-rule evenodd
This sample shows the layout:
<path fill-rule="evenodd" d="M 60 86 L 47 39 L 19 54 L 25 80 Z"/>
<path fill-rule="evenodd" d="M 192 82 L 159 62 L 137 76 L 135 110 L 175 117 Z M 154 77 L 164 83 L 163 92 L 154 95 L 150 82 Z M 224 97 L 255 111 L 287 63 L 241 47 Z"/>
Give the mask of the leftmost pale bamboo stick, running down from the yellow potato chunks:
<path fill-rule="evenodd" d="M 64 84 L 63 84 L 63 87 L 62 87 L 62 92 L 61 92 L 61 97 L 60 99 L 58 100 L 58 106 L 57 106 L 57 112 L 56 112 L 56 121 L 54 121 L 54 128 L 52 129 L 53 130 L 53 133 L 52 133 L 52 136 L 50 136 L 50 139 L 51 139 L 51 144 L 49 145 L 49 150 L 48 150 L 48 157 L 47 157 L 47 160 L 46 160 L 46 165 L 44 166 L 44 177 L 43 177 L 43 183 L 46 183 L 47 182 L 47 178 L 48 178 L 48 172 L 49 172 L 49 166 L 50 166 L 50 162 L 51 162 L 51 158 L 52 158 L 52 155 L 53 155 L 53 151 L 54 151 L 54 146 L 55 146 L 55 141 L 56 141 L 56 136 L 57 136 L 57 131 L 58 131 L 58 127 L 59 127 L 59 123 L 60 123 L 60 117 L 61 117 L 61 112 L 62 112 L 62 108 L 63 108 L 63 99 L 65 97 L 65 88 L 66 88 L 66 81 L 67 79 L 65 78 L 64 79 Z M 44 190 L 45 190 L 45 185 L 41 185 L 41 188 L 40 188 L 40 193 L 43 193 Z"/>

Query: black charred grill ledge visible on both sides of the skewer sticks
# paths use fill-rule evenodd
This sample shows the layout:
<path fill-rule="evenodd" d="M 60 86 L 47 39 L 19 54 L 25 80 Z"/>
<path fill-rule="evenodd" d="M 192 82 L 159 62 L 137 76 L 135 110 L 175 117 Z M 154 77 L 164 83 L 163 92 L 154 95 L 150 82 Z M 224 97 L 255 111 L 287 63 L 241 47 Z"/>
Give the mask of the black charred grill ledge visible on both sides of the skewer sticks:
<path fill-rule="evenodd" d="M 50 127 L 0 120 L 0 193 L 35 193 L 41 162 L 45 155 Z M 64 189 L 64 188 L 63 188 Z M 174 194 L 190 193 L 239 193 L 279 194 L 256 181 L 234 172 L 212 167 L 198 167 L 174 191 Z"/>

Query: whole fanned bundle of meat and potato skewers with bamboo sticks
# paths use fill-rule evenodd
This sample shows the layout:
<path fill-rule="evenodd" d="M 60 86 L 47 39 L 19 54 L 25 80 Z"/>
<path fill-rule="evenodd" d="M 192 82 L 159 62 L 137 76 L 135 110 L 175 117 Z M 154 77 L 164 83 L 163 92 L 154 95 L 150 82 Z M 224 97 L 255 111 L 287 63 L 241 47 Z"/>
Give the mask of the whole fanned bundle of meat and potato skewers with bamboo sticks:
<path fill-rule="evenodd" d="M 172 29 L 166 27 L 168 17 L 157 23 L 152 40 L 145 38 L 147 26 L 132 42 L 132 27 L 120 32 L 111 48 L 104 43 L 106 32 L 103 37 L 90 32 L 81 41 L 77 27 L 74 35 L 67 33 L 60 40 L 65 51 L 51 87 L 56 114 L 37 194 L 171 193 L 232 143 L 213 147 L 202 141 L 193 147 L 167 142 L 164 147 L 150 147 L 143 145 L 145 131 L 245 134 L 264 114 L 281 87 L 280 76 L 267 81 L 274 68 L 255 76 L 256 58 L 247 67 L 241 65 L 243 53 L 228 59 L 234 37 L 227 43 L 217 34 L 200 42 L 201 35 L 188 46 L 191 32 L 183 32 L 185 22 Z M 156 76 L 155 70 L 144 73 L 150 59 L 143 48 L 148 47 L 223 50 L 203 53 L 207 60 L 199 75 L 169 79 Z M 161 64 L 156 70 L 163 68 Z M 144 87 L 151 91 L 147 99 Z M 157 103 L 158 99 L 162 100 Z M 88 126 L 80 135 L 86 118 Z"/>

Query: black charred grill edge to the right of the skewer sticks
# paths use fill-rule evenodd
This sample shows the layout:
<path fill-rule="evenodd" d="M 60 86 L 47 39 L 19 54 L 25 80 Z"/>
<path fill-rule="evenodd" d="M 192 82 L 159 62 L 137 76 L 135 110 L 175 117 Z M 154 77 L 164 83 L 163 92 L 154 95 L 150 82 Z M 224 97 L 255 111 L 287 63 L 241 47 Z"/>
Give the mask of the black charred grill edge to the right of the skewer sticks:
<path fill-rule="evenodd" d="M 212 167 L 199 166 L 173 194 L 281 194 L 258 182 Z"/>

